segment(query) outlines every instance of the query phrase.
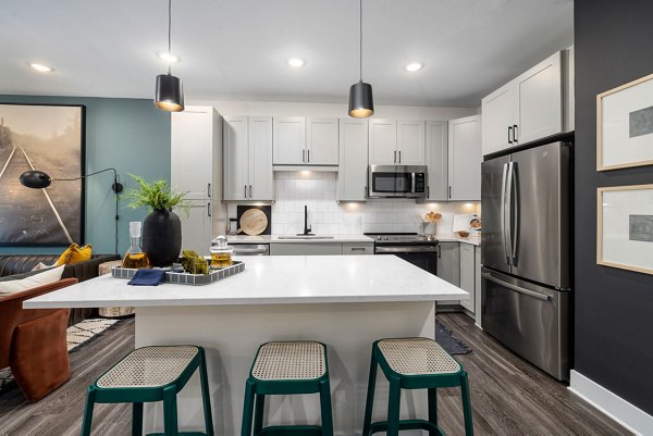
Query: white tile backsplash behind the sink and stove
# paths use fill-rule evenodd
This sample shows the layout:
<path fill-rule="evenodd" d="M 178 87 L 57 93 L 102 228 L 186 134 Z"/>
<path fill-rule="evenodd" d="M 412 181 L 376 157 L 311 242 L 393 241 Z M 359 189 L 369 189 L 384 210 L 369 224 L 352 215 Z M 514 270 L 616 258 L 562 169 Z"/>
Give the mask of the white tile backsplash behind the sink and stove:
<path fill-rule="evenodd" d="M 429 211 L 443 216 L 438 234 L 452 233 L 454 215 L 477 213 L 477 203 L 416 203 L 410 199 L 371 199 L 367 202 L 335 202 L 336 174 L 325 172 L 276 172 L 276 202 L 272 204 L 272 233 L 304 231 L 304 205 L 308 223 L 317 234 L 359 235 L 366 232 L 423 232 L 420 217 Z M 236 204 L 227 207 L 236 217 Z"/>

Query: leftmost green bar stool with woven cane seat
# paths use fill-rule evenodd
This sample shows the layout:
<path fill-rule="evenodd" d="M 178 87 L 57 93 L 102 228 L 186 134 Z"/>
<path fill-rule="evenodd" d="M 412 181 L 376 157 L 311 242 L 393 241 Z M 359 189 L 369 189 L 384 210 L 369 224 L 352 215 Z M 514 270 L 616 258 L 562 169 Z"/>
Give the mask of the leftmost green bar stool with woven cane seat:
<path fill-rule="evenodd" d="M 176 395 L 199 369 L 206 433 L 178 433 Z M 164 433 L 157 435 L 213 436 L 211 399 L 205 350 L 196 346 L 143 347 L 130 352 L 88 387 L 82 436 L 90 435 L 97 403 L 133 403 L 132 435 L 143 434 L 143 403 L 163 401 Z M 152 434 L 155 435 L 155 434 Z"/>

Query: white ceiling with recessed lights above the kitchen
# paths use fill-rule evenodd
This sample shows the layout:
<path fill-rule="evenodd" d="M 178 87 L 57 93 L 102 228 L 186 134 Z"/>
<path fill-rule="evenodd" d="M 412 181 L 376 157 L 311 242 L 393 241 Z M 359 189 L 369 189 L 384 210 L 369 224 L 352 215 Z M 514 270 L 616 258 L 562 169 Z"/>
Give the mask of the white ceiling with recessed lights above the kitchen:
<path fill-rule="evenodd" d="M 186 100 L 344 102 L 356 0 L 173 0 Z M 167 0 L 0 0 L 0 94 L 150 98 Z M 379 104 L 476 107 L 572 43 L 572 0 L 365 0 L 364 80 Z M 298 55 L 305 67 L 286 59 Z M 421 61 L 423 70 L 403 65 Z M 37 73 L 35 61 L 54 67 Z"/>

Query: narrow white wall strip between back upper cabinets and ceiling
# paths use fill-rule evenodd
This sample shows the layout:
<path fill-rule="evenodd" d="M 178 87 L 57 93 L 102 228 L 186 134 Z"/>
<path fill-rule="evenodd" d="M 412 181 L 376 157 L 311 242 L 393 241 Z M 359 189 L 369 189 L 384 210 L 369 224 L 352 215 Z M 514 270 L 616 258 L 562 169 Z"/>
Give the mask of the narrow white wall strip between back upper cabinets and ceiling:
<path fill-rule="evenodd" d="M 337 116 L 347 117 L 347 103 L 294 103 L 263 101 L 193 100 L 188 105 L 212 105 L 221 115 L 262 115 L 262 116 Z M 435 108 L 411 105 L 375 105 L 374 117 L 454 120 L 476 115 L 479 108 Z"/>

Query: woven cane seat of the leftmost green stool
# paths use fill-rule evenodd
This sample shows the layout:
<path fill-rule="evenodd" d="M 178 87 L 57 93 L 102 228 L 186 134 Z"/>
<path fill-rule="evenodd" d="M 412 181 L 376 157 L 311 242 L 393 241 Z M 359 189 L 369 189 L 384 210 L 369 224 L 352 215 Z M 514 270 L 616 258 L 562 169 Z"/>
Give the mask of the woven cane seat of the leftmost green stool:
<path fill-rule="evenodd" d="M 199 352 L 193 346 L 145 347 L 132 351 L 98 378 L 101 388 L 157 387 L 177 379 Z"/>

